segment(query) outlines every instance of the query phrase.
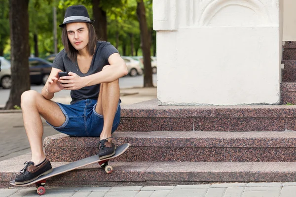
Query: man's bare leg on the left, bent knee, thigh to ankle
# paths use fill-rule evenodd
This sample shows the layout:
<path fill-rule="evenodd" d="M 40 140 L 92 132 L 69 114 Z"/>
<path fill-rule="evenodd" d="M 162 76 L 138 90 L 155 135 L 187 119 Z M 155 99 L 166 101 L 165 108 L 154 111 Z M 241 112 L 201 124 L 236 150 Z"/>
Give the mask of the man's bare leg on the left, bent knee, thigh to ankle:
<path fill-rule="evenodd" d="M 32 151 L 32 162 L 41 163 L 45 159 L 42 149 L 43 126 L 40 115 L 54 126 L 61 126 L 66 120 L 57 103 L 44 99 L 41 94 L 30 90 L 22 94 L 21 107 L 25 130 Z"/>

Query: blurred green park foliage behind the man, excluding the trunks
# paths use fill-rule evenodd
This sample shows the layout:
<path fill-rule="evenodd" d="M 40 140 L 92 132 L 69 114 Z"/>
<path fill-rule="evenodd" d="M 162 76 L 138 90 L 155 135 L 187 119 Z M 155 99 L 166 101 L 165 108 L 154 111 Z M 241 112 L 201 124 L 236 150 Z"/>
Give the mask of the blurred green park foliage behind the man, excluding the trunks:
<path fill-rule="evenodd" d="M 53 7 L 57 8 L 57 25 L 62 23 L 68 6 L 84 5 L 93 17 L 93 0 L 30 0 L 29 1 L 29 43 L 30 53 L 36 55 L 34 35 L 37 34 L 38 54 L 41 58 L 54 52 Z M 152 0 L 144 0 L 148 31 L 151 36 L 151 54 L 155 55 L 156 33 L 152 30 Z M 107 15 L 108 41 L 122 55 L 142 55 L 140 26 L 137 19 L 137 0 L 100 0 L 100 6 Z M 0 53 L 1 46 L 9 45 L 8 0 L 0 0 Z M 63 49 L 61 28 L 57 28 L 58 51 Z M 99 36 L 101 37 L 101 36 Z M 6 47 L 7 48 L 7 47 Z M 133 51 L 133 54 L 132 54 Z M 8 55 L 8 54 L 6 54 Z M 9 59 L 9 58 L 8 58 Z"/>

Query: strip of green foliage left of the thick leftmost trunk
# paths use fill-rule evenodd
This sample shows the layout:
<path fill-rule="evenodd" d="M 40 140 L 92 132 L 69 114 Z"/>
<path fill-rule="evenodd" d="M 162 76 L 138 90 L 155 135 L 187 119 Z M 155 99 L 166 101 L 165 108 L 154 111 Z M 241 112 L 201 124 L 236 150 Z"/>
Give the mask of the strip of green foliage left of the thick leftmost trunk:
<path fill-rule="evenodd" d="M 3 56 L 4 47 L 9 38 L 9 3 L 0 0 L 0 56 Z"/>

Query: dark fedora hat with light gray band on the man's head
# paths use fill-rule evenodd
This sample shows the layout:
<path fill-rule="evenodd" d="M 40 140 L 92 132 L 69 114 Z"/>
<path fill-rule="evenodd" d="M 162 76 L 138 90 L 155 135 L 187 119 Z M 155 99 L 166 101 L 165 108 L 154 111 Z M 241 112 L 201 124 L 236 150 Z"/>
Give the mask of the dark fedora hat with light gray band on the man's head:
<path fill-rule="evenodd" d="M 62 28 L 65 24 L 74 22 L 93 23 L 94 20 L 90 20 L 85 6 L 72 5 L 67 8 L 63 24 L 59 25 L 59 27 Z"/>

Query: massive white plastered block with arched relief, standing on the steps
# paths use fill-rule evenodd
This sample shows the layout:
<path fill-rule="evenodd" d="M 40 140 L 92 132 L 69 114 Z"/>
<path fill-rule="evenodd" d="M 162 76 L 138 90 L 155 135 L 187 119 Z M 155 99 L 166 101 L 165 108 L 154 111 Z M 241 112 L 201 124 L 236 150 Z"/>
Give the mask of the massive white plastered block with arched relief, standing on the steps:
<path fill-rule="evenodd" d="M 160 105 L 280 101 L 282 0 L 153 0 Z"/>

